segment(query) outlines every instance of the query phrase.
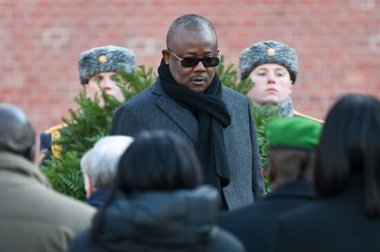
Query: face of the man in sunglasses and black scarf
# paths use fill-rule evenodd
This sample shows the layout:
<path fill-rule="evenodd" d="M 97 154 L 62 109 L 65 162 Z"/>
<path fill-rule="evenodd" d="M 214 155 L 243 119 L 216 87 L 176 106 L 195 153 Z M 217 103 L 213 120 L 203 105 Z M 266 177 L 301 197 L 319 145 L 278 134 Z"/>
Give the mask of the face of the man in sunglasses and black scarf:
<path fill-rule="evenodd" d="M 174 54 L 180 58 L 215 57 L 218 54 L 216 34 L 209 28 L 204 28 L 201 31 L 177 28 L 171 39 L 170 47 L 169 49 L 173 52 L 163 50 L 162 56 L 164 56 L 165 63 L 169 65 L 175 82 L 194 92 L 204 92 L 216 74 L 216 67 L 205 67 L 202 61 L 194 67 L 183 67 L 181 61 Z"/>

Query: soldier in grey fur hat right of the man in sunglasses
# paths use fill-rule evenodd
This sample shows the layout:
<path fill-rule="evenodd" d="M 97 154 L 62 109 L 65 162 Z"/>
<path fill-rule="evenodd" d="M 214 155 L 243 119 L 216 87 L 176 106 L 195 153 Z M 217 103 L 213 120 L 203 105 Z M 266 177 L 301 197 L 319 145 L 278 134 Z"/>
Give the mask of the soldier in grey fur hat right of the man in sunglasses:
<path fill-rule="evenodd" d="M 269 103 L 279 107 L 281 117 L 312 118 L 296 112 L 290 98 L 298 75 L 298 59 L 296 51 L 289 45 L 278 41 L 255 43 L 241 52 L 239 70 L 241 80 L 250 77 L 254 82 L 247 96 L 255 106 Z"/>

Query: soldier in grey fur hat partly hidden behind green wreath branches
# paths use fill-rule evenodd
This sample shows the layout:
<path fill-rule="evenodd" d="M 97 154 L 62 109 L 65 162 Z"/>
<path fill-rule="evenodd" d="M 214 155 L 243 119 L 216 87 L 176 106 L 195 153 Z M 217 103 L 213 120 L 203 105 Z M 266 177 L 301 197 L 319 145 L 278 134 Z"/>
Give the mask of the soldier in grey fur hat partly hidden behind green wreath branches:
<path fill-rule="evenodd" d="M 86 96 L 91 100 L 96 96 L 101 107 L 104 105 L 102 90 L 109 96 L 113 96 L 119 101 L 124 101 L 120 87 L 113 81 L 113 77 L 120 75 L 120 67 L 123 67 L 127 74 L 133 72 L 135 69 L 135 54 L 132 50 L 115 45 L 106 45 L 82 52 L 78 60 L 78 70 L 80 83 L 86 91 Z M 55 125 L 41 133 L 40 165 L 44 165 L 45 160 L 52 154 L 59 156 L 61 146 L 52 146 L 51 142 L 61 136 L 61 129 L 64 129 L 64 127 L 64 124 Z"/>

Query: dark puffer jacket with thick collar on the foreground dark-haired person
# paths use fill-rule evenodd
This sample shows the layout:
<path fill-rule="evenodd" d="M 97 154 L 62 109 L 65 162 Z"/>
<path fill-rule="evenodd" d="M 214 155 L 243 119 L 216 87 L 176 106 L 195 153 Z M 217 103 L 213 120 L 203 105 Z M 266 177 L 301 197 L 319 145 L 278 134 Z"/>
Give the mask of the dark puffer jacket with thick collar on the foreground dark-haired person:
<path fill-rule="evenodd" d="M 106 209 L 97 243 L 88 231 L 70 251 L 245 251 L 234 236 L 216 226 L 218 193 L 194 190 L 120 193 Z"/>

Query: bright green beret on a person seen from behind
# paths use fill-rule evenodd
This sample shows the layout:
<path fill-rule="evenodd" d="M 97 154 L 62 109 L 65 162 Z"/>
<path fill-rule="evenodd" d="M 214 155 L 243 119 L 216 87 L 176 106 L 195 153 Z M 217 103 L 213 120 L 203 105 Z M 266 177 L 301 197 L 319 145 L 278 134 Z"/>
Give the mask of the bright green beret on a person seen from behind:
<path fill-rule="evenodd" d="M 322 124 L 301 116 L 275 118 L 267 125 L 269 147 L 314 150 L 319 144 Z"/>

